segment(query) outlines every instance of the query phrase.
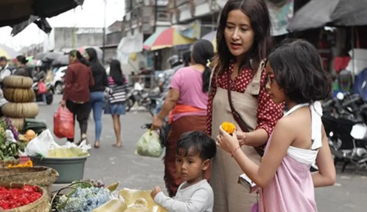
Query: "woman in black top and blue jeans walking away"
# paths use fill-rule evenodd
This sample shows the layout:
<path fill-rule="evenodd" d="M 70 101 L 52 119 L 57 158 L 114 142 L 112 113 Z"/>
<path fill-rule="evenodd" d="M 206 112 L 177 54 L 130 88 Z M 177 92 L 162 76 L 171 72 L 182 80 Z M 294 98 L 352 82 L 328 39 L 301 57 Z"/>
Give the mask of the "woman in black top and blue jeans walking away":
<path fill-rule="evenodd" d="M 108 86 L 108 79 L 106 69 L 98 61 L 97 52 L 94 48 L 87 48 L 84 57 L 89 61 L 89 67 L 92 70 L 94 78 L 94 86 L 90 87 L 89 103 L 93 109 L 93 118 L 95 122 L 94 148 L 99 148 L 99 140 L 101 139 L 102 133 L 103 91 L 105 91 L 105 88 Z"/>

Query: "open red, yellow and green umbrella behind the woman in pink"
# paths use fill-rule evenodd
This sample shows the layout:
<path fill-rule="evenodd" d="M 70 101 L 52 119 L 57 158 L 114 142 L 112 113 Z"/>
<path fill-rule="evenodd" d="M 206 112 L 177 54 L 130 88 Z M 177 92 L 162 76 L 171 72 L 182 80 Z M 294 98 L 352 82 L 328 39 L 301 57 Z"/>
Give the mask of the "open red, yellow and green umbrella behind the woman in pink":
<path fill-rule="evenodd" d="M 145 50 L 159 50 L 162 48 L 192 44 L 194 42 L 195 39 L 185 37 L 178 33 L 174 27 L 170 27 L 148 37 L 143 44 L 143 48 Z"/>

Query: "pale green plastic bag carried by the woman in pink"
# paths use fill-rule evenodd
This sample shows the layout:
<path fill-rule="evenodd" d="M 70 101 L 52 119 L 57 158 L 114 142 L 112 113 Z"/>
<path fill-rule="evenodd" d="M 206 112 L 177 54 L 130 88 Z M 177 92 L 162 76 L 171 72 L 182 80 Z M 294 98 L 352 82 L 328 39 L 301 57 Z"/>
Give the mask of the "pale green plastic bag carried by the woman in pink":
<path fill-rule="evenodd" d="M 154 130 L 145 132 L 138 141 L 136 154 L 148 157 L 160 157 L 163 147 L 159 140 L 159 134 Z"/>

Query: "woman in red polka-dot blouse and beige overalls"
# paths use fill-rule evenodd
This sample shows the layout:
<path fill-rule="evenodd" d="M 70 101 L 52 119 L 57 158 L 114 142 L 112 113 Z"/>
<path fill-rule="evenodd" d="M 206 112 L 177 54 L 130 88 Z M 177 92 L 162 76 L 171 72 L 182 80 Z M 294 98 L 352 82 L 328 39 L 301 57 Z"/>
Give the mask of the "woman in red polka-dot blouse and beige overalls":
<path fill-rule="evenodd" d="M 265 88 L 263 60 L 272 50 L 265 1 L 227 1 L 219 19 L 217 50 L 209 92 L 207 134 L 215 139 L 222 122 L 234 123 L 241 150 L 259 164 L 263 147 L 284 108 L 284 104 L 272 101 Z M 214 212 L 250 211 L 256 195 L 238 186 L 237 179 L 243 171 L 230 157 L 218 149 L 212 159 Z"/>

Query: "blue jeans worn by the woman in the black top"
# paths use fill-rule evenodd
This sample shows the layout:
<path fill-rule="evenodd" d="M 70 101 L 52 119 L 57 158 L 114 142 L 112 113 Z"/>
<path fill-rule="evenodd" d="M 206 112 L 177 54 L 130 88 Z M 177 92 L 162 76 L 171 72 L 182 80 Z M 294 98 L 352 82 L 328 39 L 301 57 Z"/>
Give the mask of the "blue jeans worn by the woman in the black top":
<path fill-rule="evenodd" d="M 93 109 L 93 119 L 95 123 L 95 140 L 99 141 L 101 139 L 102 133 L 102 110 L 104 103 L 104 95 L 102 91 L 96 91 L 90 93 L 89 103 L 91 109 Z"/>

